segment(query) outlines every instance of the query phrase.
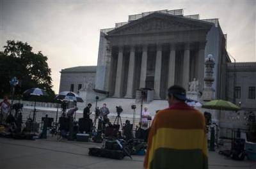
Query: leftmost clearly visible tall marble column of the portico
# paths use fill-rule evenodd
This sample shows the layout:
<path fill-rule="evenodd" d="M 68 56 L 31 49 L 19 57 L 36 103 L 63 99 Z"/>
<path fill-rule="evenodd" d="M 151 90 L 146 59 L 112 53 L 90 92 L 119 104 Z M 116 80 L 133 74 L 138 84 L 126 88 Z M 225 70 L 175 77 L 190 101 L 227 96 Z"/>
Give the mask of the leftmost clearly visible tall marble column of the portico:
<path fill-rule="evenodd" d="M 113 97 L 120 98 L 121 96 L 121 84 L 122 84 L 122 69 L 123 69 L 123 50 L 124 47 L 118 47 L 118 60 L 117 60 L 117 69 L 116 69 L 116 84 L 115 84 L 115 93 Z"/>

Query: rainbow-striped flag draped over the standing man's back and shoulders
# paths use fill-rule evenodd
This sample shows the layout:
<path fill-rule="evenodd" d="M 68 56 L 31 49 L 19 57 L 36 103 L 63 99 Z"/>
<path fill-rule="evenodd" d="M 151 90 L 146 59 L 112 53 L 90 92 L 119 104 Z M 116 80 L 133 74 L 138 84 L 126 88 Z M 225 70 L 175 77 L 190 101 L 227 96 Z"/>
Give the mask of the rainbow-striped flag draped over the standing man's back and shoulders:
<path fill-rule="evenodd" d="M 148 136 L 144 168 L 208 168 L 204 115 L 186 103 L 158 112 Z"/>

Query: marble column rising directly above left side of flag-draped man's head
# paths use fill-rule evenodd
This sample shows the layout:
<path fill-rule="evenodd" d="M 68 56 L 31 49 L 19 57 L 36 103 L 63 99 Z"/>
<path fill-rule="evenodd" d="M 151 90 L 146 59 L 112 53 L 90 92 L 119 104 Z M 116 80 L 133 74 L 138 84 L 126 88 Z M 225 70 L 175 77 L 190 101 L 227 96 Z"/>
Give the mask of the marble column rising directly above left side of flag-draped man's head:
<path fill-rule="evenodd" d="M 169 70 L 168 70 L 168 88 L 174 85 L 175 82 L 175 45 L 170 45 L 170 59 L 169 59 Z"/>

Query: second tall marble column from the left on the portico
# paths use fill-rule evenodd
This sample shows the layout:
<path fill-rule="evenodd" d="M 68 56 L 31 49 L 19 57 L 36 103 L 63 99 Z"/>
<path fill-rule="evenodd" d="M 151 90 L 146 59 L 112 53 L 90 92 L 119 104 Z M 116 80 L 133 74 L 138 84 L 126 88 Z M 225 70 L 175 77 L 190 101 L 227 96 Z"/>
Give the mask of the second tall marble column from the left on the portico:
<path fill-rule="evenodd" d="M 134 59 L 135 59 L 135 47 L 134 45 L 132 45 L 130 50 L 127 90 L 126 90 L 125 98 L 132 98 L 132 90 L 133 90 L 133 84 L 134 84 L 134 65 L 135 65 Z"/>

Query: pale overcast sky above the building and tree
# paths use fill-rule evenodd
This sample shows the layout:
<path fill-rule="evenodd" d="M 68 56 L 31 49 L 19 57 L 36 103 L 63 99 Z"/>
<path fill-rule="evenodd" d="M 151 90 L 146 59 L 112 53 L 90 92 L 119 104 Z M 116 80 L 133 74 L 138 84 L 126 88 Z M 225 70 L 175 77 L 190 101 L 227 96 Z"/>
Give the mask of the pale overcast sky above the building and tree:
<path fill-rule="evenodd" d="M 1 1 L 0 46 L 28 42 L 48 57 L 54 91 L 60 71 L 97 65 L 100 29 L 144 11 L 184 9 L 184 15 L 219 18 L 227 50 L 239 62 L 256 61 L 256 1 Z"/>

